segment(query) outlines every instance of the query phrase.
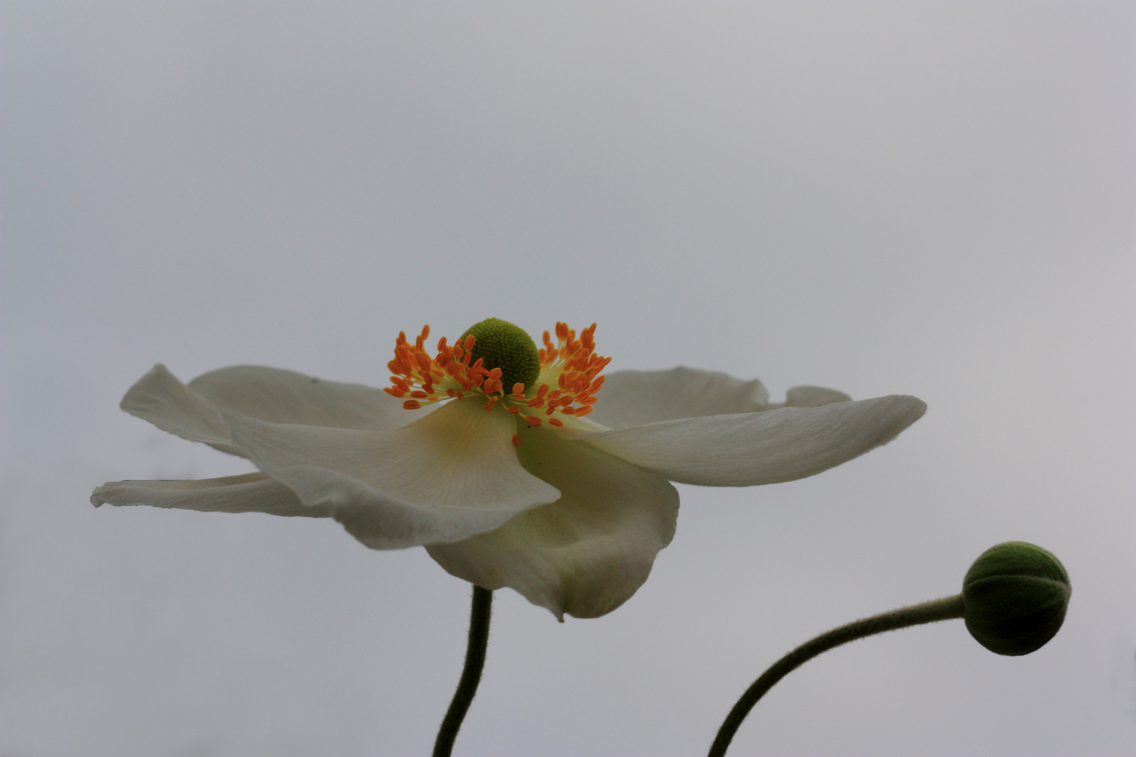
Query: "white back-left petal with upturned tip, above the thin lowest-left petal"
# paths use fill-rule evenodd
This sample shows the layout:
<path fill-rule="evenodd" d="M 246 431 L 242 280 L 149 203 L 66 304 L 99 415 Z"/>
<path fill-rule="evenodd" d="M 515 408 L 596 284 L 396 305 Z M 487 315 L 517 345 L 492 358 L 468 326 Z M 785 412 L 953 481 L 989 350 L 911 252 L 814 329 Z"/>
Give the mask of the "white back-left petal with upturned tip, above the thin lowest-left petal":
<path fill-rule="evenodd" d="M 203 441 L 234 455 L 222 412 L 273 423 L 385 430 L 414 420 L 401 402 L 381 389 L 340 384 L 261 365 L 233 365 L 182 384 L 161 363 L 123 397 L 122 409 L 164 431 Z"/>

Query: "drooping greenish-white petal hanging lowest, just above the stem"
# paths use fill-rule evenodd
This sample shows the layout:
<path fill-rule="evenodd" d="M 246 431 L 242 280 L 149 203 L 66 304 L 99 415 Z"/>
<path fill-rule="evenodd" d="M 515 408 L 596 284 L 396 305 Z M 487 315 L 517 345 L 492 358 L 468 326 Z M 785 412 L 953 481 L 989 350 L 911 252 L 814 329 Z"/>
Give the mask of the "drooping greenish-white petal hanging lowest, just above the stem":
<path fill-rule="evenodd" d="M 521 434 L 525 468 L 557 502 L 463 541 L 427 547 L 446 571 L 486 589 L 508 586 L 563 614 L 598 617 L 625 603 L 670 544 L 678 493 L 661 476 L 544 429 Z"/>

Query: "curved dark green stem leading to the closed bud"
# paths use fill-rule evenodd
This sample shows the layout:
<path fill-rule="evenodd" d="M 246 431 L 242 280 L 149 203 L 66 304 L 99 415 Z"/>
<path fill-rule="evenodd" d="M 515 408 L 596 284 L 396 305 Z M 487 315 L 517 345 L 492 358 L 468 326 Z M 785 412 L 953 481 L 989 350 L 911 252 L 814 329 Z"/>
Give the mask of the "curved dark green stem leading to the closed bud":
<path fill-rule="evenodd" d="M 709 757 L 724 757 L 726 749 L 729 747 L 730 740 L 733 740 L 734 734 L 737 732 L 738 726 L 742 724 L 742 721 L 745 720 L 745 716 L 750 714 L 750 710 L 753 709 L 753 706 L 758 704 L 758 700 L 761 699 L 761 697 L 763 697 L 775 683 L 788 675 L 790 672 L 809 662 L 820 653 L 828 651 L 829 649 L 838 647 L 842 644 L 847 644 L 849 641 L 862 639 L 876 633 L 883 633 L 884 631 L 895 631 L 909 625 L 934 623 L 935 621 L 945 621 L 952 617 L 962 617 L 961 594 L 953 597 L 944 597 L 943 599 L 935 599 L 933 602 L 925 602 L 921 605 L 900 607 L 899 609 L 880 613 L 879 615 L 872 615 L 871 617 L 864 617 L 849 623 L 847 625 L 842 625 L 837 629 L 833 629 L 832 631 L 821 633 L 811 641 L 805 641 L 800 647 L 774 663 L 769 670 L 761 674 L 761 678 L 753 682 L 753 685 L 745 690 L 742 698 L 738 699 L 737 704 L 734 705 L 734 708 L 729 710 L 729 715 L 726 716 L 721 727 L 718 729 L 718 737 L 710 746 Z"/>

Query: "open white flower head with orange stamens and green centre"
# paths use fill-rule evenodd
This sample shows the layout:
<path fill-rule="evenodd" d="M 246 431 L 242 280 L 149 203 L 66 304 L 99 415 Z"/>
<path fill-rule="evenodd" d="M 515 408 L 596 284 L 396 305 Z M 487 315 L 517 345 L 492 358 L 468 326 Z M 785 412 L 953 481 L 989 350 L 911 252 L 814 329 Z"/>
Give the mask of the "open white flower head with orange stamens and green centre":
<path fill-rule="evenodd" d="M 425 546 L 458 578 L 511 587 L 560 619 L 596 617 L 642 586 L 670 542 L 670 481 L 804 478 L 886 444 L 926 409 L 817 387 L 772 405 L 760 381 L 690 368 L 602 377 L 594 328 L 577 338 L 558 323 L 559 344 L 545 333 L 536 363 L 521 344 L 532 339 L 495 319 L 475 339 L 443 339 L 436 356 L 427 329 L 415 345 L 400 336 L 386 390 L 256 365 L 184 385 L 156 365 L 123 410 L 259 472 L 117 481 L 91 502 L 334 518 L 374 549 Z M 494 360 L 503 365 L 487 370 Z M 528 380 L 508 393 L 502 382 L 518 377 Z"/>

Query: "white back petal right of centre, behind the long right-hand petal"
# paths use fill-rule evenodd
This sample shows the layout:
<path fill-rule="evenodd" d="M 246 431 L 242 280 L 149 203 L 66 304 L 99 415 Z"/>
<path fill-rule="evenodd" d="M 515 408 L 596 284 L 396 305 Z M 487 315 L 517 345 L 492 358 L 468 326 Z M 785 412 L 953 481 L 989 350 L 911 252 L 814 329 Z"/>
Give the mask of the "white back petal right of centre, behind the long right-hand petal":
<path fill-rule="evenodd" d="M 615 371 L 607 375 L 588 415 L 608 428 L 628 428 L 679 418 L 767 410 L 761 381 L 678 367 L 667 371 Z"/>

